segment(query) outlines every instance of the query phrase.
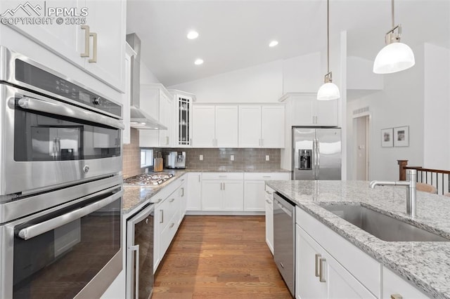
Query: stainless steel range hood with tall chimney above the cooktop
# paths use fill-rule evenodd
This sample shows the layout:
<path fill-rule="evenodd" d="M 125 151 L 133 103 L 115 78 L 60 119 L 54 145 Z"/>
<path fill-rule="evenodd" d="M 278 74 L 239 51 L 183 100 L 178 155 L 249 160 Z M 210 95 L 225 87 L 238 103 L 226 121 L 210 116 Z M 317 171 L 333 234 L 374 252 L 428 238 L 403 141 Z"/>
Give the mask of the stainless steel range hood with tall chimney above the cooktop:
<path fill-rule="evenodd" d="M 131 128 L 147 129 L 147 130 L 167 130 L 167 127 L 159 121 L 150 117 L 146 112 L 141 110 L 139 102 L 141 100 L 141 83 L 139 81 L 141 72 L 141 39 L 136 33 L 127 34 L 127 43 L 136 52 L 131 58 L 131 102 L 130 102 L 130 123 Z"/>

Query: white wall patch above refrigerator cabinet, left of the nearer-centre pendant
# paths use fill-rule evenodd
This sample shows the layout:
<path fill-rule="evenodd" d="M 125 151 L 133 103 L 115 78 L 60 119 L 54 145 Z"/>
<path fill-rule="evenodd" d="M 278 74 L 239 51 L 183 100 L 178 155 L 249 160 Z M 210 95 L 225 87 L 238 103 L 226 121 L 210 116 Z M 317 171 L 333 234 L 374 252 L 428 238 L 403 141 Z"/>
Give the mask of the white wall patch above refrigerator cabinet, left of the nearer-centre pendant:
<path fill-rule="evenodd" d="M 311 53 L 283 60 L 283 94 L 316 93 L 323 83 L 321 53 Z"/>

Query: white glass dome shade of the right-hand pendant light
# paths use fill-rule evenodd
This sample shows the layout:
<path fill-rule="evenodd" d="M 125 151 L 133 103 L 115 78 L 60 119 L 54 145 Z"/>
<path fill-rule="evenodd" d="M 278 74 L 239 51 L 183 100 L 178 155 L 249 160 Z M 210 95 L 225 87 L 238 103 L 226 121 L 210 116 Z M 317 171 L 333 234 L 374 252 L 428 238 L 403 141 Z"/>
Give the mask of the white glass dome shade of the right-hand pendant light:
<path fill-rule="evenodd" d="M 393 42 L 378 52 L 373 62 L 373 72 L 375 74 L 391 74 L 409 69 L 415 64 L 411 48 L 406 44 Z"/>

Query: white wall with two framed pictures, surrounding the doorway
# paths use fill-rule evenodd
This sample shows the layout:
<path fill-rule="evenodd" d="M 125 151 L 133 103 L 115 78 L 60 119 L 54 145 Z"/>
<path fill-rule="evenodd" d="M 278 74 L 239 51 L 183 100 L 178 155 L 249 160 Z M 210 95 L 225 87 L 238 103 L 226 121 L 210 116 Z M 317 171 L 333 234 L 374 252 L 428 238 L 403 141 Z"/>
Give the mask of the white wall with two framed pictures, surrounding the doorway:
<path fill-rule="evenodd" d="M 369 180 L 398 180 L 397 159 L 409 160 L 411 166 L 423 164 L 424 46 L 410 45 L 416 56 L 411 69 L 384 77 L 384 90 L 347 102 L 348 140 L 352 140 L 352 112 L 369 107 Z M 381 129 L 409 126 L 409 147 L 381 147 Z M 347 142 L 347 145 L 348 142 Z M 350 145 L 349 145 L 350 146 Z M 348 169 L 353 150 L 349 151 Z M 349 173 L 349 178 L 352 174 Z"/>

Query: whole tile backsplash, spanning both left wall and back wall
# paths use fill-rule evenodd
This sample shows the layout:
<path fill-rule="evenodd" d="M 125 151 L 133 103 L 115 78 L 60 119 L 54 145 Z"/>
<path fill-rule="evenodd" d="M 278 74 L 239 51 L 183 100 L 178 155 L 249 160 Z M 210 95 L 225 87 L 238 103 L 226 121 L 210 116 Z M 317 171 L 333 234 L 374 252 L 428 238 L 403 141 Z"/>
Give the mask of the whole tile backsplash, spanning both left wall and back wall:
<path fill-rule="evenodd" d="M 280 149 L 238 149 L 238 148 L 154 148 L 155 152 L 186 152 L 186 168 L 202 170 L 231 169 L 236 171 L 270 171 L 280 168 Z M 203 160 L 200 160 L 203 155 Z M 234 160 L 231 161 L 231 155 Z M 269 156 L 269 161 L 266 161 Z M 141 169 L 141 151 L 139 148 L 139 131 L 131 128 L 131 142 L 123 147 L 124 178 L 143 173 Z"/>

